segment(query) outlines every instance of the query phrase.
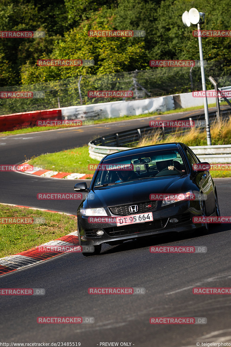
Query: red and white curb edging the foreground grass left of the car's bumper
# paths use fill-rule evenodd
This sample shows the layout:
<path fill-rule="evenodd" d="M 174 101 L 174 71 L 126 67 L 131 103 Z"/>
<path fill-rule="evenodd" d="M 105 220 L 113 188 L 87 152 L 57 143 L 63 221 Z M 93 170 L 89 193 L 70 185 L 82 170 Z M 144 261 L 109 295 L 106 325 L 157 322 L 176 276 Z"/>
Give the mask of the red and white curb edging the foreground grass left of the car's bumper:
<path fill-rule="evenodd" d="M 29 207 L 29 206 L 3 204 L 3 203 L 1 203 L 1 205 L 23 207 L 23 208 L 28 208 L 28 209 L 32 209 L 32 210 L 41 210 L 41 211 L 46 211 L 46 212 L 55 212 L 55 213 L 75 216 L 74 214 L 70 214 L 70 213 L 57 212 L 57 211 L 51 211 L 51 210 L 46 210 L 46 209 L 39 209 L 39 208 L 34 208 L 34 207 Z M 33 265 L 35 263 L 39 263 L 43 260 L 52 258 L 56 255 L 66 253 L 66 252 L 63 252 L 61 250 L 60 251 L 41 252 L 41 251 L 39 251 L 39 247 L 41 247 L 41 246 L 78 246 L 78 245 L 79 245 L 78 232 L 74 231 L 74 232 L 71 232 L 70 234 L 62 236 L 56 240 L 52 240 L 52 241 L 47 242 L 43 245 L 28 249 L 28 251 L 23 251 L 21 253 L 17 253 L 14 255 L 0 258 L 0 276 L 3 274 L 6 274 L 8 272 L 12 272 L 12 271 L 16 271 L 16 270 L 19 270 L 22 268 L 26 268 L 27 266 Z"/>

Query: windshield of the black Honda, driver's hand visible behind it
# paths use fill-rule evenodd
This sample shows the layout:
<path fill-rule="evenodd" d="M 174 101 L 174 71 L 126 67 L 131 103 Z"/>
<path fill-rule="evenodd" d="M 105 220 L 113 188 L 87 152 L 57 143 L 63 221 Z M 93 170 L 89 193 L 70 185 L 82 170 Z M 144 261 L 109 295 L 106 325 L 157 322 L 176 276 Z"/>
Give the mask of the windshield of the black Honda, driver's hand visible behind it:
<path fill-rule="evenodd" d="M 94 187 L 169 175 L 185 175 L 178 150 L 152 151 L 104 160 L 97 168 Z"/>

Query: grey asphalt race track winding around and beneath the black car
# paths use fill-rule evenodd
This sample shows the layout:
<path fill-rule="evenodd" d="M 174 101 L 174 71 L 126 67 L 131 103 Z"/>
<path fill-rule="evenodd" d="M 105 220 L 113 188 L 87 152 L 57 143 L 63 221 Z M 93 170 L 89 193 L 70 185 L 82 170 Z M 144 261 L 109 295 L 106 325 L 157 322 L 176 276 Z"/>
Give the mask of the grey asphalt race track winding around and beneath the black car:
<path fill-rule="evenodd" d="M 160 117 L 159 117 L 160 118 Z M 164 118 L 164 117 L 161 117 Z M 171 119 L 176 119 L 176 115 Z M 179 119 L 179 117 L 178 117 Z M 0 163 L 148 124 L 150 118 L 0 137 Z M 78 180 L 1 172 L 0 202 L 76 213 L 78 201 L 39 201 L 37 193 L 73 193 Z M 221 215 L 230 215 L 231 179 L 215 180 Z M 105 245 L 99 256 L 66 253 L 0 277 L 1 288 L 45 288 L 44 296 L 1 296 L 2 342 L 81 342 L 103 346 L 202 346 L 231 342 L 229 295 L 194 295 L 193 287 L 231 287 L 229 224 L 209 234 L 162 234 L 148 241 Z M 204 254 L 151 254 L 149 246 L 206 246 Z M 89 295 L 89 287 L 144 287 L 144 295 Z M 94 324 L 38 324 L 38 316 L 90 316 Z M 206 317 L 207 324 L 153 325 L 150 317 Z M 199 345 L 198 345 L 199 343 Z M 14 346 L 14 345 L 12 345 Z M 61 345 L 60 345 L 61 346 Z M 104 344 L 104 346 L 110 346 Z M 113 345 L 111 345 L 113 346 Z"/>

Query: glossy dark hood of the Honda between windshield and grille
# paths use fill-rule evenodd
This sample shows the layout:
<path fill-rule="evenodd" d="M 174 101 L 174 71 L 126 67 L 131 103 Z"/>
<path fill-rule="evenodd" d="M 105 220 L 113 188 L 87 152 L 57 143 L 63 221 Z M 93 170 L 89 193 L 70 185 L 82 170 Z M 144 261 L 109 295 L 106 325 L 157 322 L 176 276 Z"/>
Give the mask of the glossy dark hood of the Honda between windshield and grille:
<path fill-rule="evenodd" d="M 84 204 L 84 207 L 97 208 L 146 201 L 153 193 L 183 193 L 189 190 L 188 185 L 185 184 L 188 176 L 135 180 L 94 189 L 89 191 L 88 206 Z"/>

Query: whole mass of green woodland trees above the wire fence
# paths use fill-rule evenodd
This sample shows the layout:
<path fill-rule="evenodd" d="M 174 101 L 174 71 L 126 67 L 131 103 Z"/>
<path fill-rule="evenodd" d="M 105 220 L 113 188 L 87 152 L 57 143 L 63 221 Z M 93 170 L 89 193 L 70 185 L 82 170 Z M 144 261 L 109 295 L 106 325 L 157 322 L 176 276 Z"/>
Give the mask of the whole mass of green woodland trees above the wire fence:
<path fill-rule="evenodd" d="M 2 0 L 1 30 L 44 30 L 45 38 L 0 40 L 0 86 L 157 69 L 151 59 L 199 59 L 198 40 L 181 15 L 205 12 L 202 29 L 230 29 L 229 0 Z M 89 29 L 143 29 L 146 36 L 89 37 Z M 204 59 L 231 75 L 230 37 L 202 39 Z M 38 58 L 94 59 L 93 67 L 38 67 Z M 162 68 L 163 69 L 163 68 Z M 217 72 L 216 71 L 216 72 Z"/>

